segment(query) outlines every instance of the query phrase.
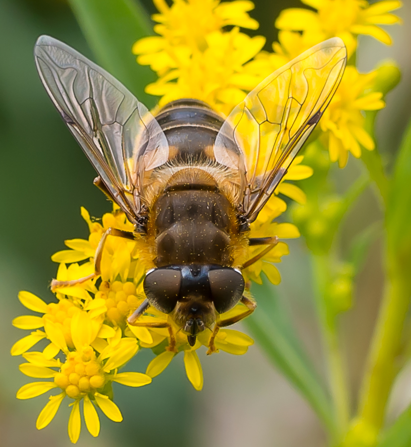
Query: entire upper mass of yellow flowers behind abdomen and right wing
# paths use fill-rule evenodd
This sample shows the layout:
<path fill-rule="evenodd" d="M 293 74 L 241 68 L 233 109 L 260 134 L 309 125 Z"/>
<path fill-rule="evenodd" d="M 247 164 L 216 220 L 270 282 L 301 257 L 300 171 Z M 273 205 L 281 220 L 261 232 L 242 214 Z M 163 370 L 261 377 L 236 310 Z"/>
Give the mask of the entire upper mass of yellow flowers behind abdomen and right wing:
<path fill-rule="evenodd" d="M 258 27 L 247 13 L 254 7 L 250 1 L 174 0 L 169 7 L 155 0 L 160 13 L 153 16 L 159 23 L 154 30 L 160 35 L 140 39 L 133 47 L 137 61 L 150 65 L 159 76 L 146 91 L 161 96 L 160 106 L 191 97 L 227 115 L 261 80 L 313 45 L 339 36 L 350 56 L 359 34 L 389 45 L 390 35 L 378 25 L 401 22 L 391 12 L 401 7 L 398 0 L 371 5 L 366 0 L 302 1 L 316 11 L 284 9 L 275 21 L 278 42 L 272 44 L 273 52 L 267 52 L 261 50 L 264 37 L 251 38 L 239 31 L 238 27 Z M 232 29 L 227 30 L 227 25 Z M 362 111 L 385 106 L 382 93 L 370 93 L 374 79 L 374 72 L 360 74 L 354 64 L 350 65 L 340 92 L 321 120 L 321 130 L 326 132 L 323 142 L 330 159 L 338 161 L 340 167 L 346 165 L 349 152 L 358 158 L 361 146 L 374 149 L 362 116 Z"/>

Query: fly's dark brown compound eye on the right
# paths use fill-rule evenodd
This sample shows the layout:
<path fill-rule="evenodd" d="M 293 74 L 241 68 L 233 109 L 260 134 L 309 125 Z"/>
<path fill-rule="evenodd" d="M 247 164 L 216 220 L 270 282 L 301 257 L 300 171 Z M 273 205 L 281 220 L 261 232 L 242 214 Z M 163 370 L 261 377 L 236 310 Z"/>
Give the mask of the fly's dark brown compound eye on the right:
<path fill-rule="evenodd" d="M 244 278 L 233 268 L 209 270 L 208 281 L 212 301 L 218 313 L 232 309 L 241 299 L 244 291 Z"/>

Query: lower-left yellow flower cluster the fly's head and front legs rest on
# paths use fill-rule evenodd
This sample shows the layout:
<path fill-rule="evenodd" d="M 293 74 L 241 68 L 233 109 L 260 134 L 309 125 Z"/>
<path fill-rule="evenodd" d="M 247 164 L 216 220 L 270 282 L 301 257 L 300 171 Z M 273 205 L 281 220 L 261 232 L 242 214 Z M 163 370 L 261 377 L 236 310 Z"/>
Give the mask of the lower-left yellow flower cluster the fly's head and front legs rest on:
<path fill-rule="evenodd" d="M 132 227 L 118 209 L 106 213 L 101 223 L 92 220 L 84 208 L 81 215 L 88 224 L 90 235 L 88 239 L 66 240 L 69 249 L 52 256 L 59 263 L 59 281 L 75 280 L 94 271 L 95 250 L 108 227 Z M 139 321 L 170 323 L 177 343 L 175 349 L 169 350 L 170 333 L 167 328 L 137 327 L 127 323 L 127 317 L 145 298 L 142 279 L 146 269 L 144 261 L 139 258 L 141 243 L 139 240 L 108 237 L 102 255 L 101 276 L 57 287 L 54 290 L 56 299 L 50 304 L 30 292 L 19 293 L 21 303 L 41 316 L 25 315 L 13 320 L 15 327 L 32 332 L 13 345 L 11 354 L 23 356 L 26 363 L 20 365 L 20 371 L 26 376 L 52 380 L 24 385 L 17 392 L 17 398 L 29 399 L 53 389 L 60 390 L 59 394 L 50 396 L 40 412 L 37 429 L 51 422 L 67 397 L 72 400 L 68 423 L 71 441 L 77 442 L 80 435 L 81 403 L 86 427 L 93 436 L 97 436 L 100 422 L 95 407 L 113 421 L 122 420 L 120 410 L 113 402 L 112 383 L 130 387 L 147 385 L 180 352 L 184 353 L 188 379 L 196 390 L 202 389 L 203 372 L 196 351 L 203 345 L 208 347 L 210 330 L 205 330 L 197 343 L 190 346 L 187 336 L 179 332 L 180 328 L 169 315 L 150 308 Z M 244 305 L 238 304 L 222 314 L 222 318 L 242 312 Z M 252 343 L 247 335 L 230 329 L 221 329 L 215 338 L 217 350 L 237 355 L 244 354 Z M 40 344 L 41 350 L 31 350 Z M 146 374 L 118 372 L 144 348 L 152 349 L 156 356 L 148 365 Z"/>

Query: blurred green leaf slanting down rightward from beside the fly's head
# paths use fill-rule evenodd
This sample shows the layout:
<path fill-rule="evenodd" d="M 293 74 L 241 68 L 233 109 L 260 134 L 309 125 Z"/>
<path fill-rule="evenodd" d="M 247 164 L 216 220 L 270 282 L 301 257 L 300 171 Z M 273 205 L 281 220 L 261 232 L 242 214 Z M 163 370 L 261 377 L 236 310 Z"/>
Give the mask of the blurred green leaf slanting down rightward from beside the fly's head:
<path fill-rule="evenodd" d="M 278 293 L 265 278 L 253 284 L 252 293 L 258 306 L 245 320 L 251 336 L 268 358 L 308 401 L 330 431 L 335 431 L 331 401 L 321 381 L 295 336 L 288 312 Z"/>

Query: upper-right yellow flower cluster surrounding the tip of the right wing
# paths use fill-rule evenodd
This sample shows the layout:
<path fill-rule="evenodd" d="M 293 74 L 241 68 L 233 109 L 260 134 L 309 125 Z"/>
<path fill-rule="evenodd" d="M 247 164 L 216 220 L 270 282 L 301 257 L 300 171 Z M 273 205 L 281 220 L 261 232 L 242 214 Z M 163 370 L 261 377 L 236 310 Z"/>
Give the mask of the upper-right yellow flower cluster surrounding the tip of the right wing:
<path fill-rule="evenodd" d="M 400 23 L 401 19 L 390 11 L 401 7 L 397 0 L 379 1 L 370 5 L 365 0 L 302 0 L 317 12 L 289 8 L 281 11 L 275 21 L 279 29 L 278 42 L 272 44 L 273 52 L 261 51 L 251 61 L 247 70 L 253 75 L 268 76 L 285 63 L 297 57 L 311 46 L 339 36 L 351 56 L 357 48 L 359 34 L 372 35 L 390 45 L 389 34 L 377 24 Z M 349 60 L 351 63 L 352 60 Z M 376 72 L 360 74 L 355 63 L 348 65 L 337 93 L 320 121 L 321 137 L 328 148 L 330 160 L 338 161 L 343 168 L 351 152 L 361 156 L 361 147 L 373 150 L 372 137 L 364 129 L 362 111 L 385 107 L 383 93 L 374 91 Z"/>

